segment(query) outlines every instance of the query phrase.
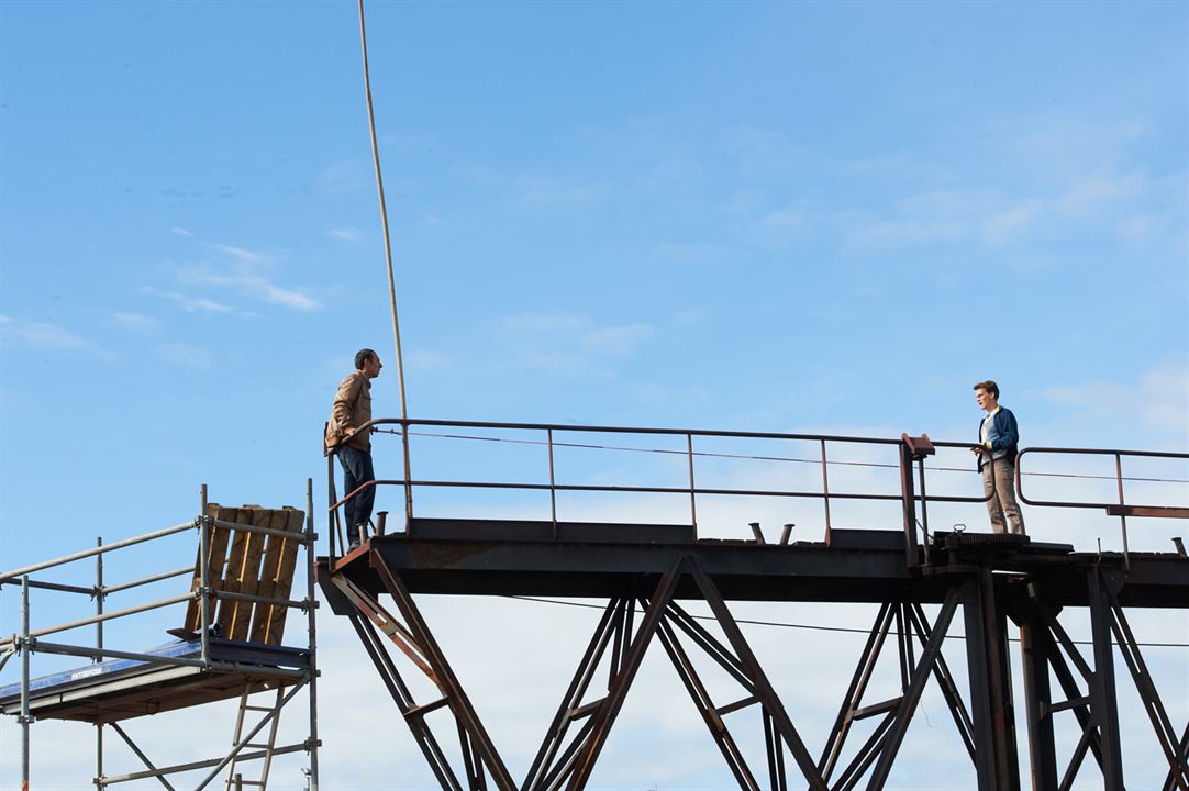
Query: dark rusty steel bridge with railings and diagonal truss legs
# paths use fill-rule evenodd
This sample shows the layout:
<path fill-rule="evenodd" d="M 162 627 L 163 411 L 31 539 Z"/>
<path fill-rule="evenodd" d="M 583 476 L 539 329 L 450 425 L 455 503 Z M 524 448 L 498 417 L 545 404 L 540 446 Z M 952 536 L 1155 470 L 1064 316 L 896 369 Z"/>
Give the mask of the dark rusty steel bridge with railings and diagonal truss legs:
<path fill-rule="evenodd" d="M 1189 504 L 1128 501 L 1126 488 L 1138 485 L 1132 482 L 1152 478 L 1125 475 L 1124 469 L 1125 462 L 1133 466 L 1156 459 L 1183 465 L 1189 454 L 1025 448 L 1018 459 L 1017 485 L 1021 500 L 1037 507 L 1030 511 L 1037 535 L 1018 536 L 961 527 L 930 531 L 930 506 L 936 509 L 938 503 L 979 503 L 984 498 L 926 494 L 926 483 L 938 471 L 954 471 L 931 463 L 938 448 L 968 447 L 963 442 L 935 442 L 927 435 L 881 439 L 417 420 L 377 420 L 370 427 L 401 438 L 405 475 L 365 486 L 403 491 L 404 531 L 389 533 L 386 514 L 380 514 L 370 540 L 340 557 L 338 508 L 365 486 L 340 500 L 331 459 L 331 553 L 317 561 L 319 583 L 334 613 L 351 621 L 443 789 L 585 787 L 646 651 L 659 642 L 744 790 L 885 787 L 921 695 L 929 685 L 936 685 L 974 765 L 980 791 L 1021 787 L 1021 751 L 1027 751 L 1031 784 L 1037 791 L 1070 789 L 1083 765 L 1087 771 L 1093 766 L 1100 772 L 1107 791 L 1121 791 L 1126 773 L 1120 733 L 1141 723 L 1120 722 L 1118 686 L 1133 683 L 1147 714 L 1146 726 L 1166 761 L 1163 791 L 1189 791 L 1189 727 L 1170 720 L 1127 620 L 1131 607 L 1189 609 L 1189 558 L 1181 539 L 1175 539 L 1177 551 L 1170 552 L 1130 551 L 1127 540 L 1128 517 L 1189 519 Z M 542 479 L 536 482 L 417 479 L 409 470 L 409 444 L 419 435 L 537 445 L 548 459 L 548 481 L 543 481 L 543 465 Z M 624 446 L 625 435 L 643 435 L 667 442 L 667 447 Z M 798 444 L 818 452 L 814 458 L 794 458 L 700 450 L 724 439 Z M 891 462 L 835 462 L 843 456 L 839 447 L 874 451 Z M 669 457 L 671 469 L 673 462 L 680 462 L 684 479 L 680 485 L 668 486 L 567 483 L 556 464 L 561 448 L 663 453 Z M 1118 497 L 1095 502 L 1033 495 L 1030 500 L 1023 485 L 1030 475 L 1025 467 L 1031 459 L 1046 454 L 1105 459 L 1114 475 L 1089 477 L 1111 479 Z M 820 488 L 747 489 L 699 483 L 704 476 L 697 467 L 707 464 L 705 457 L 716 456 L 812 464 L 820 467 Z M 855 458 L 854 452 L 849 458 Z M 894 467 L 899 490 L 841 491 L 837 485 L 831 490 L 830 471 L 836 463 Z M 1169 482 L 1177 484 L 1181 492 L 1185 488 L 1179 484 L 1189 483 L 1181 478 Z M 547 495 L 548 513 L 542 513 L 542 519 L 520 521 L 416 515 L 414 492 L 434 488 L 536 491 L 542 498 Z M 688 522 L 567 521 L 559 517 L 559 496 L 570 492 L 677 497 L 687 501 Z M 715 496 L 817 500 L 823 506 L 824 531 L 820 540 L 810 541 L 789 541 L 791 525 L 774 542 L 766 540 L 759 525 L 751 526 L 754 533 L 747 540 L 699 535 L 705 532 L 705 526 L 699 528 L 699 502 Z M 898 506 L 899 523 L 841 529 L 832 523 L 830 507 L 847 501 Z M 1108 514 L 1119 521 L 1122 548 L 1075 552 L 1069 544 L 1044 542 L 1044 520 L 1038 508 Z M 419 609 L 414 596 L 432 594 L 605 601 L 572 680 L 543 728 L 536 758 L 522 778 L 509 772 Z M 709 605 L 719 635 L 682 607 L 688 601 Z M 809 745 L 799 733 L 773 686 L 770 671 L 761 666 L 731 614 L 730 603 L 740 601 L 879 605 L 824 745 Z M 1084 653 L 1058 617 L 1070 608 L 1084 610 L 1089 619 L 1093 645 Z M 957 622 L 965 635 L 964 668 L 949 666 L 940 649 Z M 1018 661 L 1025 685 L 1023 712 L 1017 712 L 1013 703 L 1012 628 L 1018 628 L 1021 642 Z M 899 660 L 900 693 L 869 702 L 873 668 L 886 652 Z M 735 697 L 711 698 L 696 668 L 694 657 L 699 654 L 735 679 Z M 1116 655 L 1127 668 L 1126 677 L 1116 676 Z M 604 667 L 605 672 L 600 670 Z M 408 672 L 430 679 L 436 690 L 433 699 L 414 699 L 404 677 Z M 596 680 L 604 678 L 605 684 Z M 960 692 L 962 686 L 968 689 L 968 697 Z M 761 714 L 766 745 L 766 761 L 759 765 L 746 759 L 732 724 L 738 721 L 729 722 L 728 716 L 753 707 Z M 427 715 L 434 711 L 448 712 L 453 720 L 449 730 L 457 734 L 458 751 L 443 747 L 430 729 Z M 860 739 L 854 726 L 863 720 L 874 722 L 874 730 Z M 1018 733 L 1018 720 L 1023 721 L 1026 739 Z M 1076 746 L 1067 754 L 1057 749 L 1058 734 L 1069 733 L 1063 729 L 1076 735 Z M 867 730 L 869 726 L 864 726 Z"/>

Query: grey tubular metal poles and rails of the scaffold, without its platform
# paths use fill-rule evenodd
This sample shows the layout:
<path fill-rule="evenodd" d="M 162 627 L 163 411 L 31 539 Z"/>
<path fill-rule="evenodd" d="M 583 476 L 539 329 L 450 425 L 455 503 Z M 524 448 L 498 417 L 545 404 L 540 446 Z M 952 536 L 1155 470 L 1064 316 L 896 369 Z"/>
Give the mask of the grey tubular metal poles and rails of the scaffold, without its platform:
<path fill-rule="evenodd" d="M 317 608 L 317 602 L 314 596 L 314 552 L 313 547 L 317 540 L 317 534 L 314 532 L 314 490 L 313 481 L 307 481 L 306 491 L 306 525 L 301 533 L 289 533 L 284 531 L 277 531 L 266 527 L 256 527 L 251 525 L 243 525 L 239 522 L 225 522 L 216 520 L 207 515 L 207 486 L 206 484 L 201 488 L 200 494 L 200 507 L 199 516 L 194 517 L 189 522 L 183 522 L 181 525 L 175 525 L 172 527 L 163 528 L 159 531 L 153 531 L 133 538 L 124 539 L 120 541 L 113 541 L 111 544 L 103 544 L 102 539 L 96 540 L 96 546 L 90 550 L 84 550 L 81 552 L 75 552 L 61 558 L 55 558 L 52 560 L 45 560 L 20 569 L 13 569 L 11 571 L 0 572 L 0 585 L 20 585 L 21 591 L 21 628 L 20 633 L 13 634 L 8 638 L 0 638 L 0 670 L 5 667 L 10 659 L 14 655 L 19 655 L 21 660 L 20 671 L 20 715 L 18 716 L 18 722 L 21 726 L 21 777 L 25 783 L 24 787 L 29 785 L 29 728 L 30 724 L 34 722 L 34 717 L 30 712 L 31 702 L 31 690 L 30 690 L 30 660 L 33 653 L 46 653 L 46 654 L 59 654 L 70 657 L 86 657 L 90 658 L 95 663 L 103 661 L 106 659 L 128 659 L 133 661 L 141 661 L 149 665 L 172 665 L 172 666 L 184 666 L 184 667 L 200 667 L 203 670 L 214 671 L 239 671 L 243 666 L 237 663 L 227 663 L 212 659 L 210 655 L 210 633 L 213 623 L 213 609 L 219 601 L 238 601 L 238 602 L 251 602 L 259 604 L 269 604 L 273 607 L 283 607 L 287 609 L 300 609 L 307 615 L 307 628 L 309 634 L 308 654 L 306 667 L 300 671 L 281 670 L 281 668 L 269 668 L 265 666 L 253 666 L 253 674 L 259 676 L 276 676 L 278 678 L 289 678 L 295 683 L 296 689 L 308 688 L 309 689 L 309 717 L 310 717 L 310 735 L 303 745 L 294 747 L 292 749 L 285 749 L 284 752 L 296 752 L 297 749 L 304 749 L 310 754 L 310 777 L 314 778 L 314 786 L 316 789 L 316 777 L 317 777 L 317 753 L 316 747 L 320 743 L 317 741 L 317 727 L 316 727 L 316 628 L 314 613 Z M 215 527 L 240 531 L 244 533 L 252 533 L 259 535 L 281 535 L 285 539 L 291 539 L 306 548 L 306 598 L 304 599 L 288 599 L 272 596 L 256 596 L 250 594 L 240 594 L 235 591 L 220 590 L 214 580 L 208 578 L 208 571 L 212 566 L 210 564 L 210 534 Z M 180 533 L 187 533 L 194 531 L 199 535 L 199 554 L 196 561 L 196 569 L 194 565 L 183 566 L 180 569 L 172 569 L 169 571 L 162 571 L 152 573 L 138 579 L 130 582 L 124 582 L 119 584 L 106 584 L 103 580 L 103 557 L 108 553 L 115 552 L 118 550 L 124 550 L 131 546 L 145 544 L 149 541 L 155 541 L 158 539 L 168 538 L 171 535 L 177 535 Z M 48 569 L 55 569 L 59 566 L 65 566 L 78 560 L 84 560 L 88 558 L 95 558 L 95 582 L 93 585 L 70 585 L 63 583 L 38 580 L 30 577 L 30 575 L 39 571 L 45 571 Z M 170 596 L 166 598 L 159 598 L 150 602 L 144 602 L 132 607 L 126 607 L 119 610 L 105 611 L 107 597 L 112 594 L 124 592 L 141 588 L 144 585 L 150 585 L 152 583 L 164 582 L 168 579 L 174 579 L 177 577 L 194 577 L 197 575 L 197 585 L 193 586 L 185 594 L 180 594 L 176 596 Z M 31 607 L 30 607 L 30 590 L 42 589 L 51 590 L 65 594 L 84 595 L 94 598 L 95 601 L 95 615 L 89 617 L 76 619 L 71 621 L 65 621 L 61 623 L 55 623 L 48 627 L 32 628 L 31 622 Z M 125 619 L 132 615 L 138 615 L 141 613 L 149 613 L 152 610 L 158 610 L 166 607 L 172 607 L 175 604 L 181 604 L 183 602 L 197 602 L 199 603 L 199 640 L 200 649 L 197 657 L 166 657 L 155 653 L 143 653 L 134 651 L 120 651 L 111 648 L 105 645 L 103 627 L 107 622 L 118 619 Z M 46 635 L 57 634 L 61 632 L 69 632 L 71 629 L 77 629 L 87 626 L 95 627 L 95 644 L 94 646 L 82 646 L 73 644 L 59 644 L 59 642 L 46 642 L 40 638 Z M 287 698 L 288 699 L 288 698 Z M 127 736 L 118 728 L 115 723 L 111 723 L 112 727 L 121 735 L 125 740 Z M 95 784 L 96 787 L 107 787 L 108 784 L 120 783 L 130 779 L 137 779 L 141 777 L 156 777 L 164 783 L 164 776 L 188 771 L 190 768 L 199 767 L 199 764 L 185 765 L 180 767 L 165 767 L 156 768 L 149 764 L 147 772 L 139 772 L 128 776 L 117 776 L 109 777 L 103 773 L 103 723 L 96 722 L 96 753 L 95 753 Z M 210 761 L 201 762 L 201 767 L 214 766 L 214 771 L 197 786 L 199 789 L 206 787 L 218 773 L 226 766 L 239 751 L 243 745 L 238 745 L 233 748 L 233 752 L 225 759 L 213 759 Z M 136 746 L 133 745 L 133 751 L 140 754 Z M 278 749 L 277 752 L 282 752 Z M 143 758 L 143 755 L 141 755 Z M 243 758 L 241 758 L 243 760 Z M 168 784 L 166 784 L 168 786 Z"/>

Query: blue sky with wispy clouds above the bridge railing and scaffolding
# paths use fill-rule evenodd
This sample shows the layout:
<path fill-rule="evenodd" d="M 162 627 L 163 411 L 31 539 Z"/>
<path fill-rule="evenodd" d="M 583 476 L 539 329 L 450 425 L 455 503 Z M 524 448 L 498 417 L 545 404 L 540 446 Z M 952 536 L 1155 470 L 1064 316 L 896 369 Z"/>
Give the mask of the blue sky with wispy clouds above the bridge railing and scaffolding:
<path fill-rule="evenodd" d="M 369 33 L 413 416 L 1189 447 L 1184 2 Z M 0 5 L 0 566 L 322 491 L 360 346 L 398 414 L 352 4 Z"/>

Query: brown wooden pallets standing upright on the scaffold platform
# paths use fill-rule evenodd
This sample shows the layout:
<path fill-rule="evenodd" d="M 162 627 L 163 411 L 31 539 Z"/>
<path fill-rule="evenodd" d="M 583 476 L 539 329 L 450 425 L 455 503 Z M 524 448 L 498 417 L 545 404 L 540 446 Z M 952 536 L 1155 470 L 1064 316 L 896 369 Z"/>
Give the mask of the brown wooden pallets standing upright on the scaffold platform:
<path fill-rule="evenodd" d="M 208 503 L 207 516 L 221 522 L 268 527 L 291 534 L 263 535 L 212 525 L 207 536 L 210 550 L 207 579 L 214 590 L 288 599 L 297 567 L 297 550 L 301 546 L 306 514 L 289 506 L 279 509 L 259 506 L 228 508 Z M 201 561 L 202 558 L 199 557 L 194 564 L 190 590 L 197 590 L 201 585 Z M 282 604 L 226 598 L 212 602 L 209 609 L 210 623 L 218 624 L 215 634 L 227 640 L 265 645 L 281 645 L 288 613 L 289 608 Z M 184 624 L 180 629 L 171 629 L 170 634 L 193 638 L 201 628 L 201 620 L 199 601 L 191 601 L 185 611 Z"/>

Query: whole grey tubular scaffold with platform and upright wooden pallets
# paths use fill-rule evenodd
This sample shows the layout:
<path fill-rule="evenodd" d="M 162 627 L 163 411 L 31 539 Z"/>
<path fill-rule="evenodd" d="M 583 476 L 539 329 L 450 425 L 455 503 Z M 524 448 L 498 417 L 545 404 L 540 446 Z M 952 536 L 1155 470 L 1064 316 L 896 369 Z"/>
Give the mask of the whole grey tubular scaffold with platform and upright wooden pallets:
<path fill-rule="evenodd" d="M 108 584 L 103 559 L 127 547 L 188 532 L 197 534 L 194 565 L 152 573 L 139 579 Z M 20 724 L 21 787 L 30 783 L 30 727 L 37 720 L 73 720 L 95 727 L 95 777 L 99 791 L 109 786 L 155 778 L 172 789 L 170 776 L 207 770 L 195 786 L 201 791 L 226 772 L 224 787 L 268 787 L 272 759 L 307 755 L 302 768 L 307 787 L 319 787 L 317 749 L 317 632 L 314 595 L 313 482 L 306 484 L 304 513 L 291 507 L 266 509 L 257 506 L 226 508 L 207 500 L 201 486 L 199 515 L 188 522 L 133 538 L 103 544 L 69 555 L 0 572 L 0 585 L 20 588 L 20 632 L 0 639 L 0 670 L 19 658 L 20 680 L 0 686 L 0 712 L 15 716 Z M 302 554 L 303 559 L 298 555 Z M 94 558 L 92 585 L 36 579 L 31 575 Z M 111 610 L 107 598 L 117 592 L 152 583 L 189 577 L 189 590 L 166 598 Z M 291 598 L 295 580 L 304 579 L 301 599 Z M 32 624 L 31 590 L 88 596 L 95 602 L 89 617 L 45 627 Z M 118 619 L 187 604 L 183 624 L 169 633 L 175 641 L 149 651 L 125 651 L 105 645 L 103 627 Z M 281 645 L 290 610 L 306 615 L 304 647 Z M 95 628 L 94 645 L 50 642 L 44 638 L 82 627 Z M 83 657 L 84 668 L 32 678 L 36 654 Z M 281 711 L 306 691 L 308 730 L 295 743 L 277 745 Z M 268 703 L 257 702 L 266 696 Z M 218 758 L 158 766 L 121 727 L 124 720 L 188 709 L 216 701 L 239 698 L 234 736 L 229 751 Z M 107 773 L 105 730 L 111 729 L 144 765 L 143 770 Z M 263 734 L 263 735 L 262 735 Z M 243 765 L 258 770 L 245 778 Z"/>

